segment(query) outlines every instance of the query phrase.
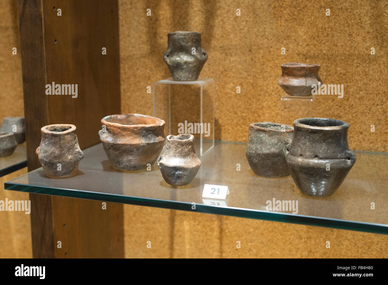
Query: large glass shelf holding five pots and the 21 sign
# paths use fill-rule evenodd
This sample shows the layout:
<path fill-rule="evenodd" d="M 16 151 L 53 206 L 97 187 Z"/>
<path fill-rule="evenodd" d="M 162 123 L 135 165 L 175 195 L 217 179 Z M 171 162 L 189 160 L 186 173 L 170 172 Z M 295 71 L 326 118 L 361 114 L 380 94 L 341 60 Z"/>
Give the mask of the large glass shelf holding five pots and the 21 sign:
<path fill-rule="evenodd" d="M 331 197 L 318 198 L 301 194 L 290 176 L 256 176 L 245 148 L 244 143 L 216 142 L 201 157 L 202 166 L 191 184 L 173 187 L 163 180 L 156 163 L 151 171 L 115 170 L 97 144 L 83 151 L 75 177 L 50 179 L 38 168 L 5 182 L 5 189 L 388 234 L 386 153 L 355 151 L 357 161 L 340 189 Z M 227 185 L 230 195 L 226 200 L 203 199 L 204 184 Z M 298 201 L 298 213 L 267 211 L 267 201 L 273 199 Z"/>

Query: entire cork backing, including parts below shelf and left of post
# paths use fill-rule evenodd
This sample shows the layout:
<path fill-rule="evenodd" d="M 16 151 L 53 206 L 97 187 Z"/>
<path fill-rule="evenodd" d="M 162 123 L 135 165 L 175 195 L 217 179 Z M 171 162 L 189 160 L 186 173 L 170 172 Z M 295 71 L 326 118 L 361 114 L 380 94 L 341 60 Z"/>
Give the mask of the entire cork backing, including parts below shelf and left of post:
<path fill-rule="evenodd" d="M 246 141 L 252 122 L 291 124 L 294 118 L 308 114 L 349 122 L 352 149 L 387 151 L 387 55 L 383 45 L 387 42 L 387 4 L 253 3 L 120 0 L 122 113 L 152 115 L 152 94 L 146 93 L 146 87 L 170 77 L 162 58 L 167 33 L 199 31 L 209 54 L 201 77 L 216 82 L 217 139 Z M 145 14 L 148 8 L 151 17 Z M 329 17 L 326 8 L 331 9 Z M 23 115 L 20 55 L 12 55 L 12 47 L 19 47 L 16 1 L 3 1 L 0 23 L 1 119 Z M 370 55 L 371 46 L 375 55 Z M 286 55 L 281 55 L 282 47 Z M 314 106 L 284 105 L 279 99 L 283 91 L 277 85 L 280 64 L 294 61 L 321 64 L 323 82 L 344 84 L 344 98 L 327 95 L 317 97 Z M 236 94 L 236 86 L 241 86 L 241 94 Z M 376 126 L 374 133 L 371 124 Z M 5 181 L 25 172 L 0 179 L 0 200 L 28 199 L 27 193 L 3 189 Z M 124 211 L 127 258 L 388 257 L 387 235 L 131 205 L 124 205 Z M 0 258 L 32 257 L 29 215 L 0 212 L 0 227 L 0 244 L 12 245 L 3 247 Z M 241 249 L 236 248 L 237 240 Z M 326 248 L 326 240 L 331 241 L 331 249 Z M 147 241 L 152 242 L 151 249 Z"/>

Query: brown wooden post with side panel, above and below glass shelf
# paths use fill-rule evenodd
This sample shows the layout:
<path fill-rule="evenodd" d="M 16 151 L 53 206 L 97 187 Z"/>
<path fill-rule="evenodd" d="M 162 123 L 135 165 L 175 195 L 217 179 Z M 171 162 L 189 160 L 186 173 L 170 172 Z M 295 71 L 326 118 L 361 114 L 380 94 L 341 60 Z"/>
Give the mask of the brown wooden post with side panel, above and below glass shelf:
<path fill-rule="evenodd" d="M 118 1 L 18 0 L 18 9 L 31 171 L 40 167 L 35 149 L 44 125 L 76 125 L 84 149 L 99 143 L 100 119 L 120 113 Z M 78 96 L 46 94 L 52 82 L 78 84 Z M 30 199 L 34 258 L 124 257 L 121 204 L 103 210 L 99 201 Z"/>

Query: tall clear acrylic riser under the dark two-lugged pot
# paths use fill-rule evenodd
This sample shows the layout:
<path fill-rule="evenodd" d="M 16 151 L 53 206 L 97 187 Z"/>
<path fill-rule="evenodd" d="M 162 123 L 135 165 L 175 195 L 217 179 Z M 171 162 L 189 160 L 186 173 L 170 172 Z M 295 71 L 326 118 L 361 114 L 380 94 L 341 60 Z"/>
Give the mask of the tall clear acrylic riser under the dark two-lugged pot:
<path fill-rule="evenodd" d="M 157 81 L 152 88 L 154 117 L 168 117 L 166 135 L 192 133 L 195 141 L 199 139 L 199 155 L 203 156 L 214 148 L 214 95 L 211 78 Z"/>

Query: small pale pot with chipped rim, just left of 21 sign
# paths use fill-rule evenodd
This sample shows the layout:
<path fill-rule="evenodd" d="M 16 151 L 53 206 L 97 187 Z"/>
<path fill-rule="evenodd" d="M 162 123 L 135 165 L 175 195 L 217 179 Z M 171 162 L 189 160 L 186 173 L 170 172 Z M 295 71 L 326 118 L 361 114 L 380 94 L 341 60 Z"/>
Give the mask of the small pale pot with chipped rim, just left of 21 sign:
<path fill-rule="evenodd" d="M 201 160 L 194 149 L 194 136 L 192 134 L 167 136 L 166 149 L 158 158 L 158 167 L 168 184 L 174 186 L 190 184 L 201 167 Z"/>

